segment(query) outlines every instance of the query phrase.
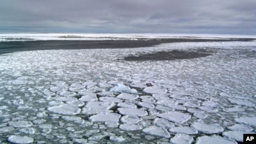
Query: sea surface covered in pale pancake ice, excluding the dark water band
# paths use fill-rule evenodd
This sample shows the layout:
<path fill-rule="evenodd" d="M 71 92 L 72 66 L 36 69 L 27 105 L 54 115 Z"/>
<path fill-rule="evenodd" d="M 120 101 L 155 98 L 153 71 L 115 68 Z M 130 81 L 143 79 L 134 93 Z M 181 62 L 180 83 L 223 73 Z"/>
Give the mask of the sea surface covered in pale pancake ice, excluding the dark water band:
<path fill-rule="evenodd" d="M 89 39 L 46 35 L 0 39 Z M 90 40 L 192 38 L 103 35 Z M 199 37 L 254 39 L 193 35 Z M 3 53 L 0 142 L 237 143 L 243 133 L 256 133 L 255 63 L 255 40 Z"/>

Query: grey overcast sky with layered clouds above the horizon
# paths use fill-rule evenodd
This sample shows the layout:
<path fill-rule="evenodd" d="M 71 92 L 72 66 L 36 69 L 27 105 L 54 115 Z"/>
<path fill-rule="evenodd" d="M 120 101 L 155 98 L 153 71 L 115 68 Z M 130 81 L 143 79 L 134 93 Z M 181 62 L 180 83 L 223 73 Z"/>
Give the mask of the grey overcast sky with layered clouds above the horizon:
<path fill-rule="evenodd" d="M 255 0 L 0 0 L 0 33 L 256 34 Z"/>

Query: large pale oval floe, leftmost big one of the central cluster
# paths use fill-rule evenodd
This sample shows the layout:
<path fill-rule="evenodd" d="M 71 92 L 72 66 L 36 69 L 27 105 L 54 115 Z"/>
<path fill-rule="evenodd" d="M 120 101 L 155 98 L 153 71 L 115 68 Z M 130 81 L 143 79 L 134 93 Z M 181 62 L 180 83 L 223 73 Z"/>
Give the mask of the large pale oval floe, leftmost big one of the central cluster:
<path fill-rule="evenodd" d="M 61 115 L 77 115 L 80 113 L 81 109 L 72 105 L 63 104 L 57 106 L 51 106 L 48 108 L 48 111 L 53 113 L 58 113 Z"/>

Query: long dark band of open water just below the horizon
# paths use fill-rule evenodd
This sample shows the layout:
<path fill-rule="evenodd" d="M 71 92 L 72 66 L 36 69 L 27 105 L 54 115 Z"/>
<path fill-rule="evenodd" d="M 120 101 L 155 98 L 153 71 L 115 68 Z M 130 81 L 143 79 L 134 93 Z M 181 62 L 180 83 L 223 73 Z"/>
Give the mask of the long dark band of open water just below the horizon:
<path fill-rule="evenodd" d="M 253 38 L 199 39 L 199 38 L 155 38 L 138 40 L 48 40 L 48 41 L 9 41 L 0 42 L 0 54 L 17 51 L 35 51 L 47 49 L 106 49 L 106 48 L 142 48 L 162 43 L 212 42 L 212 41 L 252 41 Z"/>

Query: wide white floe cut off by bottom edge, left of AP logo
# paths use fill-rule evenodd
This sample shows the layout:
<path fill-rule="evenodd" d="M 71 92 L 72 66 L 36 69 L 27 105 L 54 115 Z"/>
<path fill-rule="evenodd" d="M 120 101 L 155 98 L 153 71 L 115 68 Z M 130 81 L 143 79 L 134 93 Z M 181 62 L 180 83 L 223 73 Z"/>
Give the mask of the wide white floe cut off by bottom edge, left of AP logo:
<path fill-rule="evenodd" d="M 196 144 L 236 144 L 237 142 L 228 140 L 221 136 L 200 136 L 196 139 Z"/>

